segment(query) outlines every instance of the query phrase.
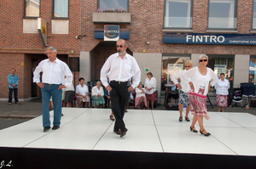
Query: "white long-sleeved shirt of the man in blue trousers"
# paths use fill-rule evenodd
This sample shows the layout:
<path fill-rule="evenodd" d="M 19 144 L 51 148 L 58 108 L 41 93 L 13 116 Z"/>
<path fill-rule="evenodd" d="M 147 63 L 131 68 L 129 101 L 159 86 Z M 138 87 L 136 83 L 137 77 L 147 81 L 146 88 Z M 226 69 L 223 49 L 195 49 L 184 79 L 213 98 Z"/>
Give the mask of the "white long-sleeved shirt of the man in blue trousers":
<path fill-rule="evenodd" d="M 40 72 L 43 72 L 43 83 L 62 84 L 66 87 L 72 85 L 73 74 L 67 64 L 60 59 L 55 59 L 54 62 L 49 61 L 49 59 L 42 60 L 34 70 L 33 82 L 40 82 Z M 64 76 L 67 76 L 66 82 Z"/>

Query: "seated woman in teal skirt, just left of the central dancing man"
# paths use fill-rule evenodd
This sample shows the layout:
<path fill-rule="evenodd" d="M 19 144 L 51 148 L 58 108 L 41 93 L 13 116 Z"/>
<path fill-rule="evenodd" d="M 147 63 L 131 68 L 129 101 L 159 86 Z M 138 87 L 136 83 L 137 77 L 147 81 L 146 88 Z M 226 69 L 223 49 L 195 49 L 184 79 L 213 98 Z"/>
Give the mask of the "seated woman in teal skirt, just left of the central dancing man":
<path fill-rule="evenodd" d="M 100 81 L 96 82 L 96 86 L 91 89 L 91 104 L 95 108 L 97 106 L 102 108 L 103 104 L 105 104 L 104 91 Z"/>

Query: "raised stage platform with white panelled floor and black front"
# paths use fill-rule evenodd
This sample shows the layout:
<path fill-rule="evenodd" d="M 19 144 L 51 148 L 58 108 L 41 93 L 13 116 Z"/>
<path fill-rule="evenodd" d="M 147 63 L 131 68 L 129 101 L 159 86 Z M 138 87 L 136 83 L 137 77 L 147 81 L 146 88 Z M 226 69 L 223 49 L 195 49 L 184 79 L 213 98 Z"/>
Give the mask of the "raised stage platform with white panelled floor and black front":
<path fill-rule="evenodd" d="M 204 126 L 212 136 L 205 137 L 189 131 L 191 122 L 179 122 L 178 111 L 128 110 L 128 132 L 119 138 L 109 120 L 110 109 L 62 111 L 56 131 L 43 132 L 42 116 L 0 130 L 0 162 L 12 161 L 21 168 L 29 161 L 36 168 L 49 163 L 65 168 L 256 166 L 256 116 L 247 113 L 208 112 L 211 118 L 204 119 Z"/>

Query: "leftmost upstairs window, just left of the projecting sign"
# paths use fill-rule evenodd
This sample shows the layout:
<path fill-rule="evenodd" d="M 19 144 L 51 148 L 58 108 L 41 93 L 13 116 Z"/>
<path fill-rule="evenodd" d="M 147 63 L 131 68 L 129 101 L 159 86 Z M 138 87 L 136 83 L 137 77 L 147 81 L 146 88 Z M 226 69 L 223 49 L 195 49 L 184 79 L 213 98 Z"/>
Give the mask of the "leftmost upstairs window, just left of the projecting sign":
<path fill-rule="evenodd" d="M 40 0 L 25 1 L 25 17 L 33 18 L 40 16 Z"/>

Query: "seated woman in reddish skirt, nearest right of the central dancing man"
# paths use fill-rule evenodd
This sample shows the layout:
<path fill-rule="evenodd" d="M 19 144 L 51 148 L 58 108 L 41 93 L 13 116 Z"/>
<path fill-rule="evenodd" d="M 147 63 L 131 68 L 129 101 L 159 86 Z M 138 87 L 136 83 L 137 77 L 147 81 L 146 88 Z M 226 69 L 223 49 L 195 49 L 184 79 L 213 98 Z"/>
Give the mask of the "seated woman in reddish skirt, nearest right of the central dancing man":
<path fill-rule="evenodd" d="M 141 106 L 141 110 L 143 110 L 144 105 L 147 107 L 147 98 L 146 98 L 146 89 L 143 88 L 142 82 L 139 83 L 138 87 L 136 87 L 136 99 L 135 99 L 135 108 L 139 105 Z"/>

